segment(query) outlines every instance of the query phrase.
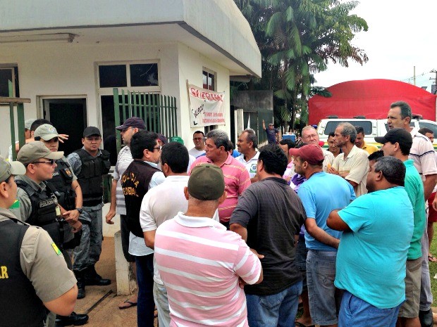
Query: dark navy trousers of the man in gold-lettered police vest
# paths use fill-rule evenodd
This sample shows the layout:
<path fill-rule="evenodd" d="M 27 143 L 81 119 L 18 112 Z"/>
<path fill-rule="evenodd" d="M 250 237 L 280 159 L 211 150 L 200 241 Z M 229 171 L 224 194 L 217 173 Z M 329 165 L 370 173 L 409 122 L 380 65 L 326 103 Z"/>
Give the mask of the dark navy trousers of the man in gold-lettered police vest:
<path fill-rule="evenodd" d="M 135 256 L 137 264 L 137 324 L 138 327 L 154 326 L 155 303 L 153 300 L 153 254 Z"/>

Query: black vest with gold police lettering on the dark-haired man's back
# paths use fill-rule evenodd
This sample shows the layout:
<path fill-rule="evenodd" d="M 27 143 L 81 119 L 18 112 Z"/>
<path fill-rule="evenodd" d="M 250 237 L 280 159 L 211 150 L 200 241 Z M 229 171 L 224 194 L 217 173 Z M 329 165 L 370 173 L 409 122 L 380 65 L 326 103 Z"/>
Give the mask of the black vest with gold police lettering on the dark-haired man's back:
<path fill-rule="evenodd" d="M 121 176 L 121 188 L 125 195 L 128 229 L 138 237 L 144 237 L 140 225 L 140 209 L 142 198 L 149 190 L 149 183 L 159 169 L 143 160 L 134 159 Z M 170 205 L 170 204 L 163 204 Z"/>

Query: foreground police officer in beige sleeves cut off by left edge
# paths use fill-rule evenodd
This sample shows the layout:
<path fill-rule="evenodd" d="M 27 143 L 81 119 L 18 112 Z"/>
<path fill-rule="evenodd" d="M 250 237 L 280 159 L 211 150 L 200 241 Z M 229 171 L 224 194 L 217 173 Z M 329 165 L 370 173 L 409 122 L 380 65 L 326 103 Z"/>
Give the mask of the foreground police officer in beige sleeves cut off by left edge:
<path fill-rule="evenodd" d="M 0 160 L 0 327 L 44 326 L 45 307 L 70 314 L 78 293 L 75 277 L 46 231 L 20 222 L 8 210 L 17 195 L 13 175 L 20 162 Z"/>

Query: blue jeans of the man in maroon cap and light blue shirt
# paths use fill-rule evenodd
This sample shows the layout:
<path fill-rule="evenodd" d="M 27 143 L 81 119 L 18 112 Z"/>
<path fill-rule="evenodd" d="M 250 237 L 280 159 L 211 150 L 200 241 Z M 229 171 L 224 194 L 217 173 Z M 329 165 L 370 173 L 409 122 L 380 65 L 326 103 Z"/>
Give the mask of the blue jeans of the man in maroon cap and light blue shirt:
<path fill-rule="evenodd" d="M 336 292 L 337 251 L 308 250 L 307 285 L 309 312 L 316 325 L 326 326 L 338 322 L 337 308 L 341 297 Z"/>

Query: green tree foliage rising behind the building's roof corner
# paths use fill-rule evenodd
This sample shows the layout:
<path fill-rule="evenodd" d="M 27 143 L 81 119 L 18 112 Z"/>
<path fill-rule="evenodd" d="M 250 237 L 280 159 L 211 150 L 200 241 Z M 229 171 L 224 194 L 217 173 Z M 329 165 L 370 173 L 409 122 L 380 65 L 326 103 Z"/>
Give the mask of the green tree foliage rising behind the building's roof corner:
<path fill-rule="evenodd" d="M 367 23 L 350 14 L 358 1 L 234 0 L 250 23 L 262 56 L 262 78 L 239 88 L 273 89 L 273 110 L 283 125 L 283 110 L 293 126 L 297 113 L 307 122 L 308 98 L 329 96 L 312 86 L 314 73 L 327 69 L 329 60 L 347 67 L 350 60 L 366 63 L 362 49 L 351 44 Z M 281 108 L 281 109 L 280 109 Z"/>

